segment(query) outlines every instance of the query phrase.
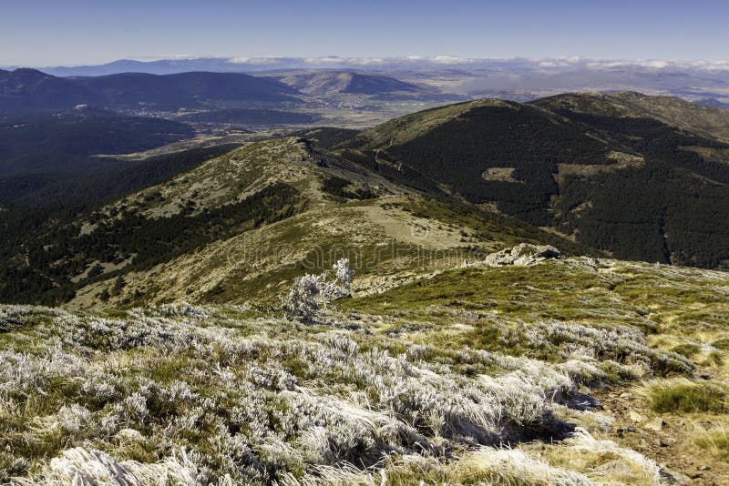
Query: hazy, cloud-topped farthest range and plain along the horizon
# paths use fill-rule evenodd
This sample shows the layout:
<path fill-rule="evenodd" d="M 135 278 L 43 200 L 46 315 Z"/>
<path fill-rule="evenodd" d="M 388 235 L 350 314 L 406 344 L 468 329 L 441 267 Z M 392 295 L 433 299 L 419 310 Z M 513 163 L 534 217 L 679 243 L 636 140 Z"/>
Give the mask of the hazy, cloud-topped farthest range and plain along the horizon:
<path fill-rule="evenodd" d="M 54 76 L 107 76 L 119 73 L 168 75 L 190 71 L 283 73 L 353 71 L 426 81 L 446 94 L 529 101 L 582 91 L 641 91 L 680 96 L 711 106 L 729 106 L 729 63 L 660 59 L 585 57 L 483 59 L 459 56 L 406 57 L 200 57 L 118 60 L 99 66 L 48 66 Z"/>

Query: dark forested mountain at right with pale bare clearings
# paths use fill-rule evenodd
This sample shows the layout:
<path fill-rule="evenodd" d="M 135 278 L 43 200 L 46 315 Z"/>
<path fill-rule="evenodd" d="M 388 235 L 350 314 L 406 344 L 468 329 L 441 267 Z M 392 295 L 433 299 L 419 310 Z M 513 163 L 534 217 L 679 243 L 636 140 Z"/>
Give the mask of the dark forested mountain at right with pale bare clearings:
<path fill-rule="evenodd" d="M 692 110 L 671 119 L 685 124 L 703 108 Z M 698 135 L 705 126 L 692 133 L 662 120 L 621 96 L 485 100 L 404 116 L 337 149 L 401 182 L 496 205 L 621 258 L 722 266 L 729 145 Z"/>

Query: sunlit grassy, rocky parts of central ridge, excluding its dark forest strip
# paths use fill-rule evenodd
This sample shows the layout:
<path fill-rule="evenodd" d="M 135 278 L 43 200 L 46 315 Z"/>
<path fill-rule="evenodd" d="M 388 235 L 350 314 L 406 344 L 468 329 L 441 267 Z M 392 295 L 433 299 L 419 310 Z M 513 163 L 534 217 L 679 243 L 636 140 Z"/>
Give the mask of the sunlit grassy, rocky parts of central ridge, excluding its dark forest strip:
<path fill-rule="evenodd" d="M 424 268 L 432 270 L 522 240 L 560 242 L 567 251 L 576 248 L 514 220 L 428 202 L 347 160 L 313 151 L 296 138 L 241 148 L 108 210 L 141 210 L 154 220 L 183 211 L 210 218 L 216 208 L 241 197 L 258 197 L 271 187 L 291 192 L 288 203 L 295 208 L 284 218 L 220 228 L 214 240 L 195 252 L 155 266 L 131 265 L 114 301 L 134 302 L 139 296 L 147 302 L 276 301 L 294 276 L 328 268 L 342 255 L 351 258 L 366 281 L 366 276 L 388 274 L 412 278 Z M 470 236 L 464 237 L 466 232 Z M 98 303 L 99 292 L 111 289 L 113 278 L 78 289 L 71 305 Z"/>

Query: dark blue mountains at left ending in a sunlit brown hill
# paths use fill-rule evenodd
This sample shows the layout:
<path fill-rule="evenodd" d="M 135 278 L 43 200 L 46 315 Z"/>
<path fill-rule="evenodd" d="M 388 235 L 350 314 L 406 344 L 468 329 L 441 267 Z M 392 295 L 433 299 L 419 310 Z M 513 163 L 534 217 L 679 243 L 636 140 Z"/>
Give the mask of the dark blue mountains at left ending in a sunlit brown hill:
<path fill-rule="evenodd" d="M 280 108 L 301 104 L 307 96 L 337 94 L 433 99 L 440 96 L 433 87 L 403 82 L 391 76 L 346 71 L 270 76 L 186 72 L 59 77 L 29 68 L 0 70 L 0 116 L 64 110 L 78 105 L 172 112 L 180 108 Z M 228 121 L 223 115 L 218 114 L 213 119 Z M 231 118 L 236 119 L 245 117 Z"/>

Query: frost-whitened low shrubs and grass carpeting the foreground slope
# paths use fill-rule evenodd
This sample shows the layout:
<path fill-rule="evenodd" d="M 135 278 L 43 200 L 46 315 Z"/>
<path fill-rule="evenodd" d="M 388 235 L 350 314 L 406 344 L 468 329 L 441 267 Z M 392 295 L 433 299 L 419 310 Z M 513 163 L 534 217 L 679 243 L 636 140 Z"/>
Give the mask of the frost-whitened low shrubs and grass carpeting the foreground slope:
<path fill-rule="evenodd" d="M 528 351 L 537 343 L 556 349 L 554 356 L 510 356 L 436 339 L 415 345 L 406 339 L 420 332 L 322 331 L 184 306 L 135 309 L 118 319 L 45 310 L 35 319 L 32 309 L 25 312 L 35 327 L 24 324 L 10 337 L 32 336 L 35 347 L 0 351 L 0 451 L 18 443 L 46 448 L 19 472 L 37 472 L 27 483 L 65 484 L 70 475 L 121 484 L 133 474 L 132 484 L 380 484 L 383 474 L 395 481 L 398 468 L 412 467 L 432 472 L 428 483 L 518 481 L 533 479 L 531 471 L 579 484 L 570 481 L 581 476 L 536 457 L 479 447 L 531 440 L 555 425 L 555 402 L 560 413 L 573 406 L 580 384 L 664 356 L 628 327 L 522 326 L 501 317 L 489 318 L 499 335 Z M 471 314 L 447 319 L 479 319 Z M 58 452 L 59 443 L 98 451 Z M 512 460 L 527 469 L 508 475 Z M 5 462 L 0 457 L 0 469 Z"/>

